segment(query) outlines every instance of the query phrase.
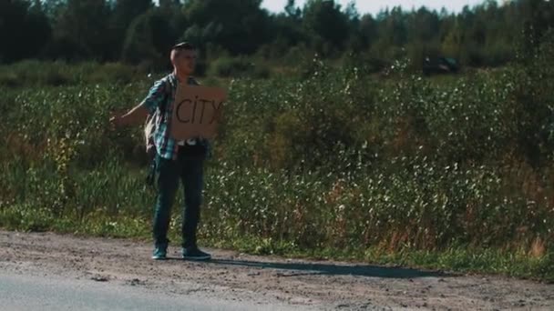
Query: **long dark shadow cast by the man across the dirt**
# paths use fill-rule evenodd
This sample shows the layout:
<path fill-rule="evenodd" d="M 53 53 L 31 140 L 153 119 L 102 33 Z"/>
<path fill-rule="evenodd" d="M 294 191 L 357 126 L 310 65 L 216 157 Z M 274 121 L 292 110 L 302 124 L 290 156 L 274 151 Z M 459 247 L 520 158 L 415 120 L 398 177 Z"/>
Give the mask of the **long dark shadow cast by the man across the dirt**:
<path fill-rule="evenodd" d="M 416 277 L 444 277 L 452 276 L 444 272 L 423 271 L 402 267 L 369 266 L 369 265 L 333 265 L 312 263 L 272 263 L 247 260 L 212 259 L 207 264 L 226 266 L 248 266 L 252 268 L 267 268 L 283 270 L 278 276 L 369 276 L 385 278 L 416 278 Z"/>

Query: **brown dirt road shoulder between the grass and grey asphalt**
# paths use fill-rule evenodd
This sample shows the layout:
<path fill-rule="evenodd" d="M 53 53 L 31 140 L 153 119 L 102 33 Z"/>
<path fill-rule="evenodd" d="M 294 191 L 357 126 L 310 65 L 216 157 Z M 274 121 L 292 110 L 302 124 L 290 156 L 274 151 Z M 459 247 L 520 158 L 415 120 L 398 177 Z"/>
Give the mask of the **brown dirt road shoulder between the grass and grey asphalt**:
<path fill-rule="evenodd" d="M 174 259 L 159 262 L 149 259 L 149 243 L 0 231 L 0 284 L 8 275 L 17 284 L 25 282 L 18 276 L 71 280 L 223 306 L 227 301 L 230 309 L 554 310 L 554 286 L 531 281 L 216 249 L 210 249 L 210 262 L 195 263 L 177 259 L 176 246 L 169 251 Z"/>

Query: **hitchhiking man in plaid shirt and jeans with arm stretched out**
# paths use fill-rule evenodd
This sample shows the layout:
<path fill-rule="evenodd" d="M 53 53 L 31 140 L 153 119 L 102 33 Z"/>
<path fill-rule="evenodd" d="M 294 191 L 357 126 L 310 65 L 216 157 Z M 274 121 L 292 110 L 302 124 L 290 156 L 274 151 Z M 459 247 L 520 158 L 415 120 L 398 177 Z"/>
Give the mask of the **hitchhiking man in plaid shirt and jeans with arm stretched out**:
<path fill-rule="evenodd" d="M 190 260 L 209 260 L 210 254 L 202 252 L 196 241 L 200 221 L 200 204 L 203 187 L 203 165 L 209 147 L 204 139 L 176 141 L 169 136 L 173 101 L 179 84 L 197 85 L 190 76 L 196 65 L 196 48 L 180 43 L 171 48 L 173 72 L 157 81 L 149 95 L 125 115 L 113 115 L 113 125 L 133 125 L 144 122 L 147 115 L 158 112 L 158 127 L 153 135 L 156 147 L 155 166 L 158 185 L 153 237 L 152 259 L 166 259 L 169 244 L 168 229 L 175 194 L 181 180 L 185 193 L 182 224 L 182 257 Z"/>

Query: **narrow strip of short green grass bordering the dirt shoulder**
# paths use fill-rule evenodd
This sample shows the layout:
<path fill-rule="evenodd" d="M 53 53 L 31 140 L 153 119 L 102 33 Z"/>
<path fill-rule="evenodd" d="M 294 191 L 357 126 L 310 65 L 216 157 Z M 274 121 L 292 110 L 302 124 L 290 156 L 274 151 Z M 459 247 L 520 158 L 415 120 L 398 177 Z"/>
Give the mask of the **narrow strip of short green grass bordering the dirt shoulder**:
<path fill-rule="evenodd" d="M 169 239 L 178 246 L 180 236 L 172 223 Z M 132 238 L 150 241 L 150 225 L 147 218 L 89 217 L 76 220 L 48 215 L 46 210 L 36 210 L 30 206 L 10 206 L 0 213 L 0 227 L 7 230 L 26 232 L 52 231 L 76 236 L 102 236 Z M 364 262 L 385 266 L 410 266 L 421 269 L 446 272 L 503 275 L 528 278 L 546 283 L 554 283 L 553 259 L 549 256 L 533 257 L 525 252 L 514 254 L 494 249 L 472 249 L 457 246 L 441 251 L 410 250 L 409 247 L 393 252 L 383 252 L 378 247 L 367 248 L 313 248 L 302 249 L 291 242 L 275 241 L 259 236 L 234 236 L 221 239 L 205 229 L 200 230 L 202 246 L 212 246 L 253 254 L 287 256 L 314 260 L 340 260 Z M 145 255 L 146 256 L 146 255 Z"/>

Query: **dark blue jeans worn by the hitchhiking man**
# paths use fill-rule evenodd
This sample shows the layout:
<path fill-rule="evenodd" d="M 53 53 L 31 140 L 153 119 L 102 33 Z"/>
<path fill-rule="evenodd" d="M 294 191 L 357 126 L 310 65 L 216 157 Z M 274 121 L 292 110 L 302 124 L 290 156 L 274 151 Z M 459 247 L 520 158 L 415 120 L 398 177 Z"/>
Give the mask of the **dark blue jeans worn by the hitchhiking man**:
<path fill-rule="evenodd" d="M 180 147 L 177 159 L 156 156 L 158 198 L 155 206 L 153 236 L 157 247 L 167 247 L 171 208 L 182 182 L 185 193 L 182 246 L 196 246 L 196 231 L 200 222 L 200 205 L 204 176 L 206 148 L 201 145 Z"/>

